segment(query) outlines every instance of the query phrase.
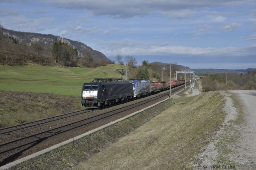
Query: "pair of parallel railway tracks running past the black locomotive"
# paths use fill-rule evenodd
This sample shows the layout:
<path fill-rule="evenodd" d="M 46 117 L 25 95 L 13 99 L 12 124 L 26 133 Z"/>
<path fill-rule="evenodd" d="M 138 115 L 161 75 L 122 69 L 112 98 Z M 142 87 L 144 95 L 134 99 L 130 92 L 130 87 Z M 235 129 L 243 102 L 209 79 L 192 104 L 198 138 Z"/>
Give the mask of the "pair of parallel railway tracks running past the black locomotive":
<path fill-rule="evenodd" d="M 173 89 L 172 92 L 175 92 L 181 88 L 183 88 L 183 86 Z M 65 132 L 71 131 L 71 130 L 74 130 L 77 128 L 82 128 L 84 126 L 90 126 L 90 124 L 92 124 L 93 122 L 99 122 L 101 120 L 109 119 L 110 117 L 114 117 L 114 116 L 118 117 L 117 115 L 119 115 L 119 114 L 121 115 L 122 113 L 124 113 L 126 111 L 132 110 L 135 107 L 139 107 L 139 106 L 148 104 L 150 102 L 153 102 L 154 100 L 159 100 L 160 98 L 165 97 L 167 94 L 169 94 L 169 92 L 164 92 L 161 95 L 154 96 L 150 99 L 146 99 L 146 100 L 137 102 L 132 105 L 128 105 L 128 106 L 118 108 L 118 109 L 115 109 L 112 111 L 107 111 L 105 113 L 98 114 L 98 115 L 95 115 L 92 117 L 88 117 L 88 118 L 85 118 L 85 119 L 82 119 L 82 120 L 79 120 L 76 122 L 68 123 L 63 126 L 44 130 L 39 133 L 35 133 L 32 135 L 28 135 L 26 137 L 21 137 L 19 139 L 15 139 L 15 140 L 12 140 L 9 142 L 2 143 L 2 144 L 0 144 L 0 157 L 1 157 L 0 161 L 6 157 L 10 157 L 12 154 L 26 150 L 26 148 L 30 148 L 30 147 L 33 147 L 34 145 L 40 144 L 42 141 L 44 141 L 46 139 L 49 139 L 51 137 L 56 137 L 58 135 L 65 135 Z M 47 122 L 60 121 L 65 118 L 68 118 L 68 117 L 78 116 L 78 115 L 88 113 L 88 112 L 90 112 L 90 110 L 82 110 L 82 111 L 77 111 L 77 112 L 73 112 L 73 113 L 68 113 L 65 115 L 55 116 L 52 118 L 47 118 L 47 119 L 40 120 L 40 121 L 22 124 L 19 126 L 11 127 L 9 129 L 4 128 L 4 129 L 0 129 L 0 134 L 2 136 L 5 136 L 14 131 L 19 131 L 19 130 L 26 129 L 26 128 L 28 129 L 28 128 L 32 128 L 35 126 L 44 125 L 44 124 L 47 124 Z M 116 118 L 116 119 L 118 119 L 118 118 Z M 0 163 L 0 165 L 1 165 L 1 163 Z"/>

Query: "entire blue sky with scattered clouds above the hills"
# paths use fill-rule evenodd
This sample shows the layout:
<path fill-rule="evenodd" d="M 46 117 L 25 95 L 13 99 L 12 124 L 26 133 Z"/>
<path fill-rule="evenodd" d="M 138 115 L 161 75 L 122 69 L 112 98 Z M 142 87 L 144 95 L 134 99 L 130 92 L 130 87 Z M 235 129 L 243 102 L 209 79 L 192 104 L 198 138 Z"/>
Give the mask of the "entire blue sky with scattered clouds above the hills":
<path fill-rule="evenodd" d="M 0 0 L 0 24 L 81 41 L 111 60 L 256 68 L 256 0 Z"/>

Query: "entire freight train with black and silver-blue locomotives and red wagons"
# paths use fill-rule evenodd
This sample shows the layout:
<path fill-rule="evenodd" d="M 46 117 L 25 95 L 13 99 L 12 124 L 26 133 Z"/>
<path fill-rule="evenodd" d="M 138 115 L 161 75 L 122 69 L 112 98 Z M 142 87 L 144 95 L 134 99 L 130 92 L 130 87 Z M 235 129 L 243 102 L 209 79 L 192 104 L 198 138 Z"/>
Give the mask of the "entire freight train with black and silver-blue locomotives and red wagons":
<path fill-rule="evenodd" d="M 119 80 L 119 81 L 118 81 Z M 139 98 L 170 88 L 170 81 L 153 81 L 130 79 L 120 81 L 113 78 L 97 78 L 92 83 L 84 83 L 81 92 L 81 105 L 96 108 L 111 105 L 119 101 Z M 185 84 L 185 80 L 172 80 L 172 87 Z"/>

